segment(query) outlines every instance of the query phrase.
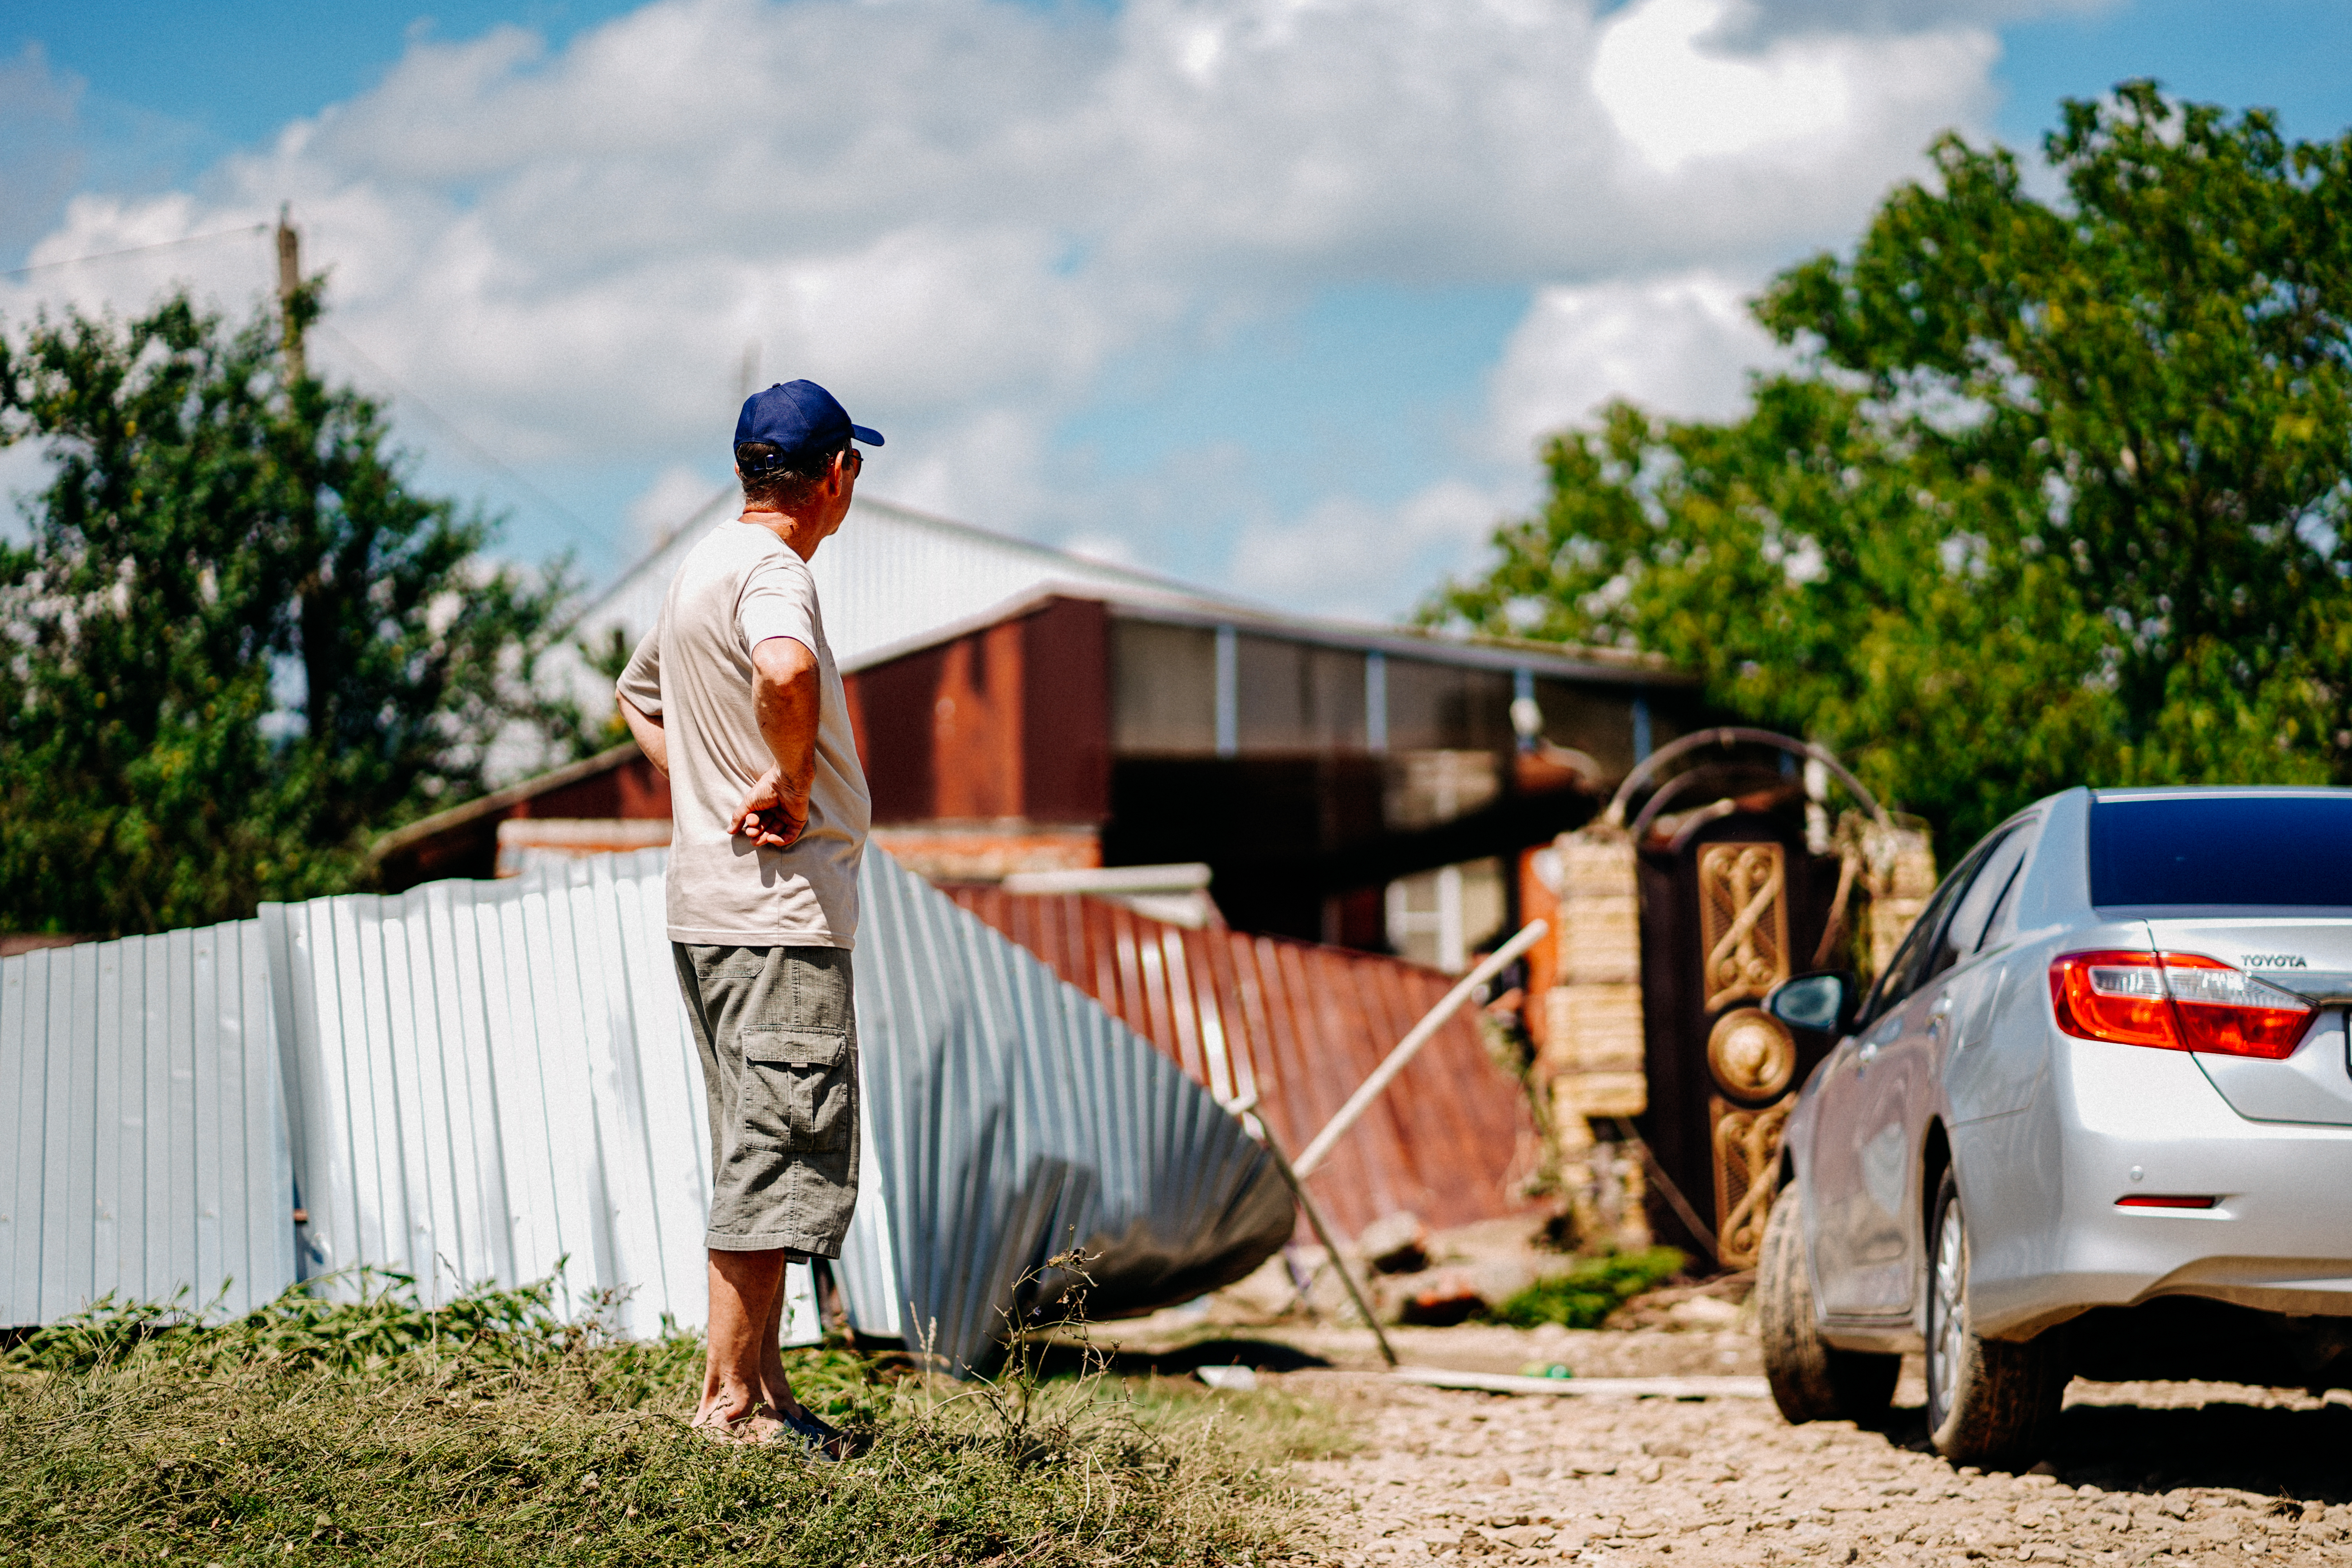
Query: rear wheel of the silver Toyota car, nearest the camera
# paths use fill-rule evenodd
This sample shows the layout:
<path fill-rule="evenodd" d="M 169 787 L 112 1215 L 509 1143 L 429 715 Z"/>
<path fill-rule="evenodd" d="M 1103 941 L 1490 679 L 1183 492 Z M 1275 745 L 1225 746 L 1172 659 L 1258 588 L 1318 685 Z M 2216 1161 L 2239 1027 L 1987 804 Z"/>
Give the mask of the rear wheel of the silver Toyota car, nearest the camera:
<path fill-rule="evenodd" d="M 1985 1340 L 1969 1328 L 1969 1227 L 1950 1171 L 1936 1190 L 1926 1281 L 1926 1432 L 1955 1465 L 2016 1469 L 2051 1443 L 2067 1368 L 2056 1333 Z"/>

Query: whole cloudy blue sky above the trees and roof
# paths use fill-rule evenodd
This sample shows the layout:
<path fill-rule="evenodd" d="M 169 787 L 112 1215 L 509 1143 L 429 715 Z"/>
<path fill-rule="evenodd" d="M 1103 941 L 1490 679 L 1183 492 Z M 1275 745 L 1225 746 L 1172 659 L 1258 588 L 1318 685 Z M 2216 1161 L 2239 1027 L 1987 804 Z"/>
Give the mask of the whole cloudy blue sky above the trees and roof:
<path fill-rule="evenodd" d="M 811 376 L 868 494 L 1392 618 L 1545 433 L 1736 414 L 1938 132 L 2154 75 L 2338 136 L 2345 59 L 2352 0 L 19 0 L 0 331 L 261 308 L 287 205 L 313 362 L 506 555 L 609 581 Z"/>

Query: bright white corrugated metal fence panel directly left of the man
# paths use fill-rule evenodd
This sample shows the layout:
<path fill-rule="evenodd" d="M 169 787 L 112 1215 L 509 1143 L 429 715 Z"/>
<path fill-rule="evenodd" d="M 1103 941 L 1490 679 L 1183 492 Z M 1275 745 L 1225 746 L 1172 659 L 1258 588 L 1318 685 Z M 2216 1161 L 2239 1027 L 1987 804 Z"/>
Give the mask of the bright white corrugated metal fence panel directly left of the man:
<path fill-rule="evenodd" d="M 619 1324 L 701 1326 L 710 1143 L 677 1004 L 663 851 L 506 882 L 263 905 L 303 1272 L 428 1300 L 557 1274 Z M 788 1338 L 818 1335 L 804 1269 Z"/>

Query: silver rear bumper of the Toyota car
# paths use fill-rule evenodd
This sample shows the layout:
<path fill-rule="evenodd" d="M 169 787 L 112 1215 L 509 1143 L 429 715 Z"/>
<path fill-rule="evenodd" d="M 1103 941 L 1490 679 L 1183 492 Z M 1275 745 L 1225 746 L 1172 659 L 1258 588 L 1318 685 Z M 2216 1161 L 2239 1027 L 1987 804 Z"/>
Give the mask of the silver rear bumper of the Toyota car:
<path fill-rule="evenodd" d="M 2030 1110 L 1952 1131 L 1978 1333 L 2159 1295 L 2352 1316 L 2352 1126 L 2249 1121 L 2180 1051 L 2060 1037 L 2049 1060 Z"/>

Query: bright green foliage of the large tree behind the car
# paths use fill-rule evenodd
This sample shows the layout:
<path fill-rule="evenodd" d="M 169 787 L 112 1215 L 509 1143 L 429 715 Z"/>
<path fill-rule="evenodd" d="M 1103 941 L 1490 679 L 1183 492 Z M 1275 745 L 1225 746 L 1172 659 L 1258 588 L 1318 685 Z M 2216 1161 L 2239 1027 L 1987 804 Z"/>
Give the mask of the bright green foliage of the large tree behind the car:
<path fill-rule="evenodd" d="M 1945 136 L 1783 273 L 1752 411 L 1613 407 L 1423 616 L 1665 654 L 1825 741 L 1950 853 L 2077 783 L 2352 762 L 2352 136 L 2126 82 L 2065 200 Z"/>

